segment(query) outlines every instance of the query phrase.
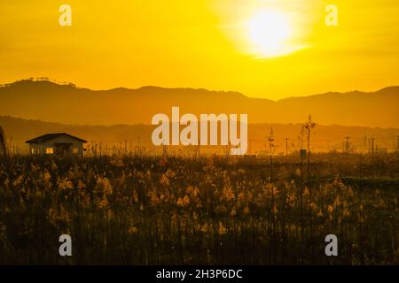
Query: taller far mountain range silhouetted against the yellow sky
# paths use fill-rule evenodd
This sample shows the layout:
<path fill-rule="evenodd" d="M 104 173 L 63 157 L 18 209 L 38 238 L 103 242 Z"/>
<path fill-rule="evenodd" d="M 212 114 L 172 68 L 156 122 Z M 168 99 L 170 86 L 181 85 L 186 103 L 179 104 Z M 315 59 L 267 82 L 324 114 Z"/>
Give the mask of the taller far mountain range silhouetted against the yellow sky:
<path fill-rule="evenodd" d="M 265 93 L 267 96 L 267 93 Z M 0 114 L 74 125 L 150 124 L 156 113 L 248 113 L 251 123 L 399 127 L 399 87 L 377 92 L 325 93 L 278 102 L 238 92 L 143 87 L 90 90 L 50 80 L 19 80 L 0 87 Z"/>

